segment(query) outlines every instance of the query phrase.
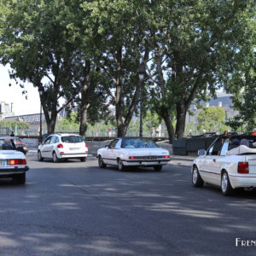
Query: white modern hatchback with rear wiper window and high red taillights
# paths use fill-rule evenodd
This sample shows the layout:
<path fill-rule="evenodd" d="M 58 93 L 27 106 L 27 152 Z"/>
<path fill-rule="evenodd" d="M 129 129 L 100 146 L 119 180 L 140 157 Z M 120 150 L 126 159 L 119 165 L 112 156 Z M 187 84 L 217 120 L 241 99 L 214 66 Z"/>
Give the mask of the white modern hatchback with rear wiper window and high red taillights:
<path fill-rule="evenodd" d="M 82 162 L 88 155 L 87 144 L 83 137 L 77 134 L 55 133 L 50 134 L 38 146 L 38 160 L 52 159 L 55 163 L 60 160 L 79 159 Z"/>

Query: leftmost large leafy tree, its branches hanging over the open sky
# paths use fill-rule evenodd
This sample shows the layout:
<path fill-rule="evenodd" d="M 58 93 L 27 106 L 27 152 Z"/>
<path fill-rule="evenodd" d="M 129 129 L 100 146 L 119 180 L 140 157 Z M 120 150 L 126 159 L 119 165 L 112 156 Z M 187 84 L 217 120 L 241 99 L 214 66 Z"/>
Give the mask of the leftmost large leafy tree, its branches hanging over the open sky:
<path fill-rule="evenodd" d="M 67 28 L 60 19 L 61 1 L 1 2 L 1 61 L 12 68 L 10 78 L 32 83 L 40 96 L 48 132 L 55 130 L 57 113 L 73 100 L 73 90 L 64 79 L 65 60 L 73 52 Z M 53 18 L 54 17 L 54 18 Z M 67 102 L 60 106 L 61 97 Z"/>

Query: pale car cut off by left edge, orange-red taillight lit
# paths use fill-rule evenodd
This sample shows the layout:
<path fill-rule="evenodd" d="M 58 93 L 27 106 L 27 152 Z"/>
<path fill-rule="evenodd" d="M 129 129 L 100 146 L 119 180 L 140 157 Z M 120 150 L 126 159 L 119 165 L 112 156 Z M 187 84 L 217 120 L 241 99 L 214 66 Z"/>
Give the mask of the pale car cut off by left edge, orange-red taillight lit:
<path fill-rule="evenodd" d="M 15 137 L 0 137 L 0 177 L 13 177 L 17 183 L 26 183 L 26 156 L 23 147 L 16 147 Z"/>

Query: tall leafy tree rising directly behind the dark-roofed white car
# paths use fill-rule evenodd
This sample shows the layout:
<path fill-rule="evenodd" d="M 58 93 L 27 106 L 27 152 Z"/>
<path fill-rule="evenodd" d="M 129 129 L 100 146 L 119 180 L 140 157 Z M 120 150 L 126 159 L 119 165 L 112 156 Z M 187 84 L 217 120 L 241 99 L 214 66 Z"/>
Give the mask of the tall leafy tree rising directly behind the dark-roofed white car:
<path fill-rule="evenodd" d="M 102 72 L 102 86 L 108 101 L 115 107 L 118 136 L 125 136 L 139 100 L 140 83 L 137 68 L 140 58 L 148 59 L 143 35 L 138 32 L 137 1 L 106 0 L 83 3 L 90 15 L 98 53 L 96 65 Z"/>

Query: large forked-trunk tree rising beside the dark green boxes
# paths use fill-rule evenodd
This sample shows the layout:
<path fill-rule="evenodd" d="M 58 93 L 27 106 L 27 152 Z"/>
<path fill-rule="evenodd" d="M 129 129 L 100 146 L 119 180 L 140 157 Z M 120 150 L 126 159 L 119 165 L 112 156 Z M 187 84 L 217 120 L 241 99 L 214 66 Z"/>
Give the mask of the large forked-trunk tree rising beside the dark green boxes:
<path fill-rule="evenodd" d="M 152 109 L 166 122 L 170 143 L 183 137 L 191 102 L 224 85 L 244 61 L 233 61 L 245 37 L 253 1 L 143 1 L 138 15 L 152 51 Z M 177 119 L 176 129 L 172 120 Z"/>

